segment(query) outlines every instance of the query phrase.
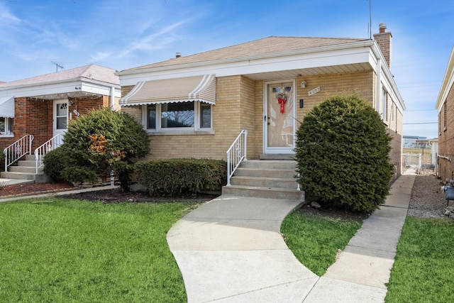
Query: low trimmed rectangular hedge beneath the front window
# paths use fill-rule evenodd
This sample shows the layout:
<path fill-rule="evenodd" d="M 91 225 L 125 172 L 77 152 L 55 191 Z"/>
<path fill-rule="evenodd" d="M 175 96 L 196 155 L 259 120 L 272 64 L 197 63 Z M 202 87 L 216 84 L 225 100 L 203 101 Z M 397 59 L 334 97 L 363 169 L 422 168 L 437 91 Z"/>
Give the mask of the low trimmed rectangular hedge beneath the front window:
<path fill-rule="evenodd" d="M 227 183 L 227 163 L 212 159 L 147 160 L 135 163 L 135 177 L 149 194 L 216 192 Z"/>

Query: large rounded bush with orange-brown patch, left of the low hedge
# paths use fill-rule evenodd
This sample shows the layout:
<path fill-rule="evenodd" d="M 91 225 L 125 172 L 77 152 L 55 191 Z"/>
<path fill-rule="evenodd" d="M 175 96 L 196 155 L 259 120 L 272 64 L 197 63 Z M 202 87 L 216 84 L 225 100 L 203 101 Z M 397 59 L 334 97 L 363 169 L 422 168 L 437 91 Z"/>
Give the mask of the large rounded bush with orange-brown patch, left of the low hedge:
<path fill-rule="evenodd" d="M 150 152 L 150 145 L 133 117 L 104 108 L 70 121 L 63 145 L 57 149 L 64 165 L 59 177 L 64 180 L 93 183 L 114 171 L 122 189 L 129 190 L 133 164 Z"/>

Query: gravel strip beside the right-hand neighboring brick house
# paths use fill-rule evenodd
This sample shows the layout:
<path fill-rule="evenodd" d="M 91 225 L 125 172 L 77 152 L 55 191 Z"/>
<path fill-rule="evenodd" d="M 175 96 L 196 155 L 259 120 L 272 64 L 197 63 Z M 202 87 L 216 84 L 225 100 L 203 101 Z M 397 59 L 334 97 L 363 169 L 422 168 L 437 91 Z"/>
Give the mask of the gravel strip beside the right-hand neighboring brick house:
<path fill-rule="evenodd" d="M 441 190 L 443 185 L 432 170 L 422 170 L 416 175 L 408 216 L 443 217 L 446 211 L 445 193 Z M 449 205 L 454 205 L 454 201 Z"/>

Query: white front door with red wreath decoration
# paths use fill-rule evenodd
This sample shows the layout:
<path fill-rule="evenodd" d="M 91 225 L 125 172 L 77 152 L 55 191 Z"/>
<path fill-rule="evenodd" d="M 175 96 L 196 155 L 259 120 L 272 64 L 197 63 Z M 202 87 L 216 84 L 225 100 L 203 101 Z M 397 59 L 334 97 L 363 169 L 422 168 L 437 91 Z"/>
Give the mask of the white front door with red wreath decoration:
<path fill-rule="evenodd" d="M 294 153 L 294 80 L 265 83 L 264 152 Z"/>

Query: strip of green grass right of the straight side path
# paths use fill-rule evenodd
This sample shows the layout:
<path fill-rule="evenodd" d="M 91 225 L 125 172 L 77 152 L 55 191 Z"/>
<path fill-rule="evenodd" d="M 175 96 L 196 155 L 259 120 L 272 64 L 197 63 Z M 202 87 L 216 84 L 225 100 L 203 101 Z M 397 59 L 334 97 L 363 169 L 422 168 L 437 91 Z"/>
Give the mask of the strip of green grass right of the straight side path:
<path fill-rule="evenodd" d="M 385 302 L 453 302 L 454 221 L 407 217 Z"/>

